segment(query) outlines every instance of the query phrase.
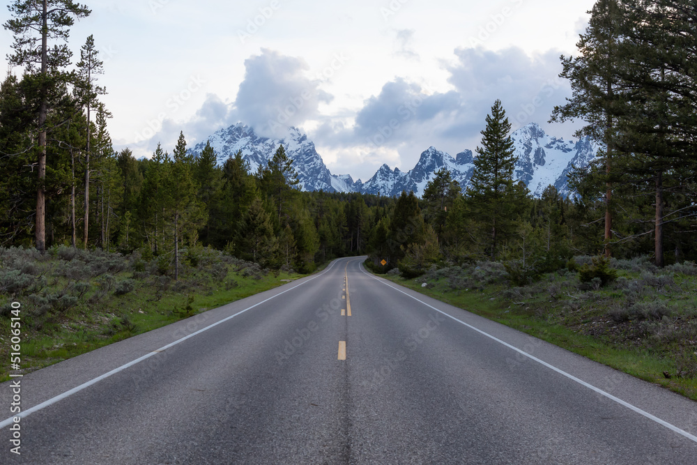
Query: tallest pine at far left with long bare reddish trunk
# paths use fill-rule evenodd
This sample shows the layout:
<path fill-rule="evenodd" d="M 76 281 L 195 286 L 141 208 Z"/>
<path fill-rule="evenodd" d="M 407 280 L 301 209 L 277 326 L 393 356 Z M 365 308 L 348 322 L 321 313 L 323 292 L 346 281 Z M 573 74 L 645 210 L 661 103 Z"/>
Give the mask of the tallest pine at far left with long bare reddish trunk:
<path fill-rule="evenodd" d="M 68 45 L 61 43 L 49 48 L 49 39 L 67 40 L 69 28 L 75 18 L 88 16 L 91 11 L 72 0 L 15 0 L 9 6 L 13 19 L 3 26 L 15 38 L 12 47 L 15 53 L 9 56 L 15 66 L 26 66 L 30 74 L 38 77 L 38 112 L 36 129 L 38 132 L 38 160 L 36 190 L 36 248 L 46 249 L 46 153 L 47 119 L 49 101 L 56 87 L 68 81 L 68 74 L 62 69 L 70 63 L 72 53 Z M 36 70 L 36 65 L 39 69 Z"/>

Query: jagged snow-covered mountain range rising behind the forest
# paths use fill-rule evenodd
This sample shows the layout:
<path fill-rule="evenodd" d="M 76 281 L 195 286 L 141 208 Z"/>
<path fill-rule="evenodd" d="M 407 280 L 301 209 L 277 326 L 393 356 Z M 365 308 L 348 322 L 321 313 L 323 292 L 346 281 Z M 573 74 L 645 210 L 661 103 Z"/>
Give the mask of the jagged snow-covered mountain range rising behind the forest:
<path fill-rule="evenodd" d="M 514 179 L 528 185 L 533 196 L 540 197 L 548 185 L 554 185 L 564 197 L 574 195 L 569 188 L 567 174 L 572 167 L 585 167 L 597 156 L 597 146 L 585 138 L 565 141 L 546 135 L 536 123 L 530 123 L 512 133 L 516 165 Z M 419 197 L 434 172 L 442 167 L 450 170 L 452 177 L 464 188 L 469 184 L 474 171 L 474 155 L 466 150 L 452 155 L 431 146 L 424 151 L 415 167 L 409 171 L 381 166 L 368 181 L 354 181 L 348 174 L 332 174 L 317 153 L 314 143 L 296 128 L 289 128 L 283 137 L 269 139 L 256 135 L 247 125 L 238 123 L 222 129 L 208 138 L 217 153 L 218 163 L 242 151 L 243 158 L 250 164 L 252 172 L 273 157 L 283 144 L 293 166 L 298 171 L 302 190 L 324 190 L 325 192 L 362 192 L 365 194 L 399 195 L 402 190 L 413 190 Z M 194 154 L 201 153 L 205 142 L 192 148 Z"/>

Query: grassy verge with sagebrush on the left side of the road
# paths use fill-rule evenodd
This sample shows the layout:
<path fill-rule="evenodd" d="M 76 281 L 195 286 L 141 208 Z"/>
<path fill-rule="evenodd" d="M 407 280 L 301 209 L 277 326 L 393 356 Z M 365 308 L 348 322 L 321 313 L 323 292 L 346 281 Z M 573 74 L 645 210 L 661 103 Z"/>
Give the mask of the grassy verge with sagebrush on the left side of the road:
<path fill-rule="evenodd" d="M 303 276 L 215 250 L 199 248 L 188 257 L 175 281 L 161 260 L 138 253 L 56 247 L 40 256 L 0 249 L 0 381 L 10 379 L 10 302 L 22 304 L 20 367 L 26 374 Z"/>

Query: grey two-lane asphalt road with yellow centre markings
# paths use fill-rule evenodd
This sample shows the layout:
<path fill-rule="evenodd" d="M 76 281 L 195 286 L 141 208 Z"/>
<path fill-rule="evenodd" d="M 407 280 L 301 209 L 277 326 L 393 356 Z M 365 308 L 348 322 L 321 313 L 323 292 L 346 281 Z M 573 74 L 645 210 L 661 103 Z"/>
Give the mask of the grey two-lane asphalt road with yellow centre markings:
<path fill-rule="evenodd" d="M 697 457 L 697 403 L 374 277 L 355 258 L 21 386 L 17 456 L 12 388 L 0 385 L 1 464 Z"/>

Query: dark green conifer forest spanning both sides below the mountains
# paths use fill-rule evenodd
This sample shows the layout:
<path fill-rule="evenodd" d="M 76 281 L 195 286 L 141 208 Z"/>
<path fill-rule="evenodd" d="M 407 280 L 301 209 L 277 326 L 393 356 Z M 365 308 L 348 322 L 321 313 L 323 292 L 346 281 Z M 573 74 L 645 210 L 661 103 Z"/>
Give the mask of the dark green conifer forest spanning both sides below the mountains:
<path fill-rule="evenodd" d="M 697 259 L 694 1 L 595 4 L 578 55 L 562 56 L 573 96 L 551 120 L 585 122 L 579 136 L 592 137 L 599 156 L 570 175 L 578 195 L 550 186 L 539 199 L 513 181 L 498 100 L 482 121 L 470 185 L 441 169 L 421 199 L 302 192 L 283 147 L 255 172 L 240 153 L 221 166 L 210 145 L 192 155 L 183 134 L 149 159 L 116 152 L 93 38 L 74 66 L 65 44 L 89 9 L 41 4 L 15 1 L 5 24 L 15 36 L 10 63 L 24 74 L 0 88 L 0 245 L 141 250 L 175 277 L 201 245 L 303 272 L 352 254 L 407 275 L 503 261 L 516 282 L 579 254 L 650 255 L 658 266 Z"/>

